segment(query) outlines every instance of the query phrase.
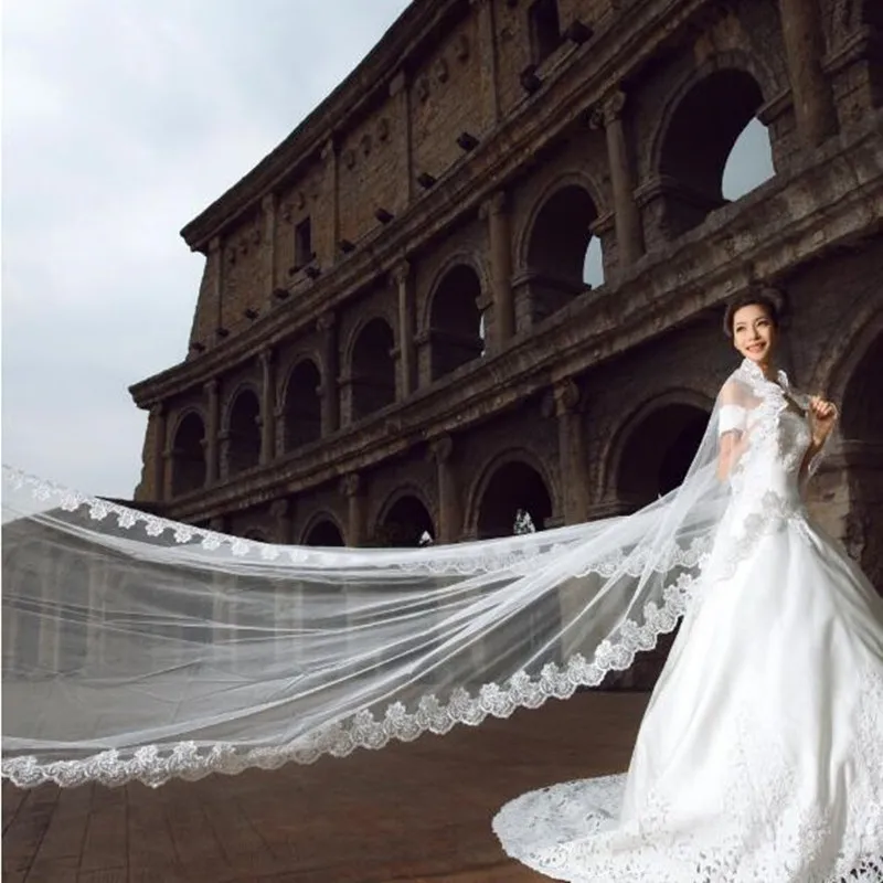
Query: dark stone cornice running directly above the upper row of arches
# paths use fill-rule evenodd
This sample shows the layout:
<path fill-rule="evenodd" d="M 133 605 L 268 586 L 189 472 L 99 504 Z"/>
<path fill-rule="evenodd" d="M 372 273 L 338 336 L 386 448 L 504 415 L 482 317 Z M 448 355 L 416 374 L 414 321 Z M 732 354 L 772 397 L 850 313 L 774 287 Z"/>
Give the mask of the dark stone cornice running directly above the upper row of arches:
<path fill-rule="evenodd" d="M 230 365 L 252 358 L 270 343 L 301 333 L 317 312 L 336 309 L 360 289 L 413 254 L 457 219 L 479 212 L 501 182 L 520 170 L 562 130 L 581 125 L 585 109 L 649 61 L 660 42 L 671 40 L 708 0 L 645 0 L 611 21 L 604 34 L 571 50 L 572 62 L 550 72 L 544 87 L 521 105 L 464 157 L 436 185 L 385 227 L 359 243 L 359 249 L 329 267 L 307 290 L 262 317 L 247 329 L 195 359 L 181 362 L 130 387 L 138 407 L 204 383 Z M 643 18 L 641 18 L 643 13 Z M 222 198 L 223 199 L 223 198 Z"/>

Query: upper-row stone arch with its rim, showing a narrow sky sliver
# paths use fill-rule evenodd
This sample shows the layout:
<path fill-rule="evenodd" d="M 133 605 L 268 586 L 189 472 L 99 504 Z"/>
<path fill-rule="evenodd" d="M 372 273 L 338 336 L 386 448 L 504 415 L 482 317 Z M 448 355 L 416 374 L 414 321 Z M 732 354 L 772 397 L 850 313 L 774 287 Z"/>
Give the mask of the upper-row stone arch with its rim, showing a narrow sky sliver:
<path fill-rule="evenodd" d="M 517 248 L 517 288 L 530 305 L 532 322 L 542 321 L 589 287 L 586 268 L 599 214 L 595 192 L 585 174 L 572 172 L 550 183 L 531 210 Z M 599 268 L 603 280 L 603 263 Z"/>

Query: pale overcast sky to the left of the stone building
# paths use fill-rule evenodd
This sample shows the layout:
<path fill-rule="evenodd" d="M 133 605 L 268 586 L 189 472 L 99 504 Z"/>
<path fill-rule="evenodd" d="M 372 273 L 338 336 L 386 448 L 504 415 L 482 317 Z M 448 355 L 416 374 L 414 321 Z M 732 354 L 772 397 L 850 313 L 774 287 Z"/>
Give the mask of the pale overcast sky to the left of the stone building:
<path fill-rule="evenodd" d="M 3 1 L 4 462 L 131 496 L 146 415 L 127 389 L 181 361 L 202 273 L 178 231 L 406 6 Z M 765 174 L 763 146 L 747 156 L 735 178 Z"/>

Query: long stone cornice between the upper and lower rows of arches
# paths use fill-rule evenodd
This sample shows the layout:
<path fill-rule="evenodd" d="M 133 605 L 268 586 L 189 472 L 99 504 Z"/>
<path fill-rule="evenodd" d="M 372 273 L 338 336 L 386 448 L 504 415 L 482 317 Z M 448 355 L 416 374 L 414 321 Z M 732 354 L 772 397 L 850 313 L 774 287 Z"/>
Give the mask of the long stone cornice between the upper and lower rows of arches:
<path fill-rule="evenodd" d="M 880 149 L 868 142 L 862 170 L 874 168 Z M 842 244 L 881 235 L 883 169 L 839 201 L 838 180 L 854 156 L 836 157 L 807 168 L 791 181 L 802 193 L 819 193 L 819 205 L 800 216 L 788 216 L 779 204 L 791 204 L 788 187 L 762 189 L 745 205 L 730 206 L 708 226 L 684 236 L 673 251 L 648 255 L 639 270 L 620 285 L 597 289 L 551 317 L 507 351 L 456 372 L 444 385 L 417 392 L 373 418 L 347 427 L 321 443 L 258 467 L 235 482 L 199 491 L 167 504 L 178 520 L 201 521 L 216 513 L 248 509 L 364 471 L 415 445 L 456 435 L 502 413 L 526 396 L 589 371 L 624 349 L 636 347 L 672 327 L 719 308 L 755 278 L 775 281 L 805 263 L 817 260 Z M 774 182 L 770 182 L 774 183 Z M 758 216 L 769 202 L 764 223 L 746 227 L 746 216 Z M 783 223 L 783 217 L 788 217 Z M 784 247 L 786 246 L 787 247 Z M 387 432 L 395 427 L 395 435 Z"/>

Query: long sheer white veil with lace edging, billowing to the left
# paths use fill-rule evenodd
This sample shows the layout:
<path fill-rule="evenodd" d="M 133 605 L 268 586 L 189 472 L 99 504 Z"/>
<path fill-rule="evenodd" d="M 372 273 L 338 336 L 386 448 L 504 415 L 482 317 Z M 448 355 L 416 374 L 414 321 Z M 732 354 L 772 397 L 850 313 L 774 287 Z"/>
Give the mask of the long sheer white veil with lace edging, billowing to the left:
<path fill-rule="evenodd" d="M 599 684 L 690 604 L 730 497 L 722 404 L 757 404 L 725 390 L 682 486 L 636 514 L 414 550 L 251 542 L 4 467 L 3 776 L 311 763 Z"/>

